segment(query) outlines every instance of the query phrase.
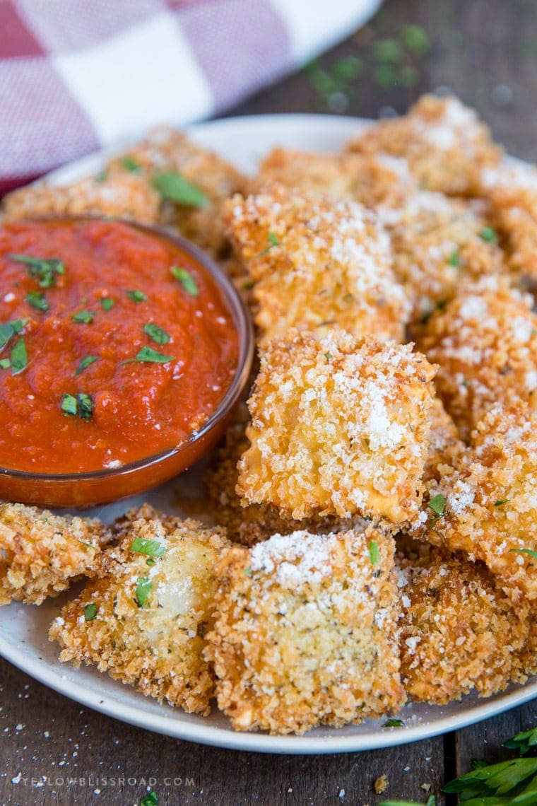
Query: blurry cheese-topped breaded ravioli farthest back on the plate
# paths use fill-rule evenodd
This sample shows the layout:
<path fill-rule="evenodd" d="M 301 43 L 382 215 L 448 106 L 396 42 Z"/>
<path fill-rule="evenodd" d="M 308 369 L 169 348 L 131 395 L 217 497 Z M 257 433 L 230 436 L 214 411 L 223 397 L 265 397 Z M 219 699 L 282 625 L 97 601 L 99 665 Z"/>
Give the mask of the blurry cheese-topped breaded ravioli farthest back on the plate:
<path fill-rule="evenodd" d="M 502 156 L 473 109 L 458 98 L 434 95 L 423 95 L 402 118 L 376 123 L 348 150 L 403 157 L 423 189 L 450 196 L 477 195 L 482 168 L 497 165 Z"/>

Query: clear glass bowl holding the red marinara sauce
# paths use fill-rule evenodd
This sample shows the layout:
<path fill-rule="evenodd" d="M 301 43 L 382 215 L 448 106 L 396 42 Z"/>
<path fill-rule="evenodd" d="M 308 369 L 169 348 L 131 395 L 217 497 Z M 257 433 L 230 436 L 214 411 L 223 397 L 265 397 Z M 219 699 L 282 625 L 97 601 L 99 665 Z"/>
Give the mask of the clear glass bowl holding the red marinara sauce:
<path fill-rule="evenodd" d="M 83 220 L 89 220 L 84 217 Z M 57 220 L 57 219 L 56 219 Z M 160 239 L 168 239 L 186 251 L 217 282 L 238 332 L 238 365 L 224 397 L 200 430 L 176 447 L 125 463 L 121 467 L 79 473 L 32 473 L 0 467 L 0 499 L 47 507 L 86 507 L 116 501 L 144 492 L 191 467 L 214 447 L 225 433 L 246 387 L 254 354 L 250 315 L 232 281 L 204 251 L 179 235 L 157 226 L 124 223 Z"/>

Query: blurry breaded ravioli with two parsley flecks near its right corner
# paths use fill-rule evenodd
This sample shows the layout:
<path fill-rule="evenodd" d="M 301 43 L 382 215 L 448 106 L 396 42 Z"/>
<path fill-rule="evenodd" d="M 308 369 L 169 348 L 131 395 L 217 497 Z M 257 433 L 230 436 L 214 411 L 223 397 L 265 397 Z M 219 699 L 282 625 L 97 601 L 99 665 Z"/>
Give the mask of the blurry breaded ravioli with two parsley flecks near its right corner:
<path fill-rule="evenodd" d="M 379 214 L 390 233 L 394 274 L 412 302 L 411 320 L 427 321 L 455 296 L 465 278 L 506 272 L 488 235 L 482 205 L 421 191 Z"/>

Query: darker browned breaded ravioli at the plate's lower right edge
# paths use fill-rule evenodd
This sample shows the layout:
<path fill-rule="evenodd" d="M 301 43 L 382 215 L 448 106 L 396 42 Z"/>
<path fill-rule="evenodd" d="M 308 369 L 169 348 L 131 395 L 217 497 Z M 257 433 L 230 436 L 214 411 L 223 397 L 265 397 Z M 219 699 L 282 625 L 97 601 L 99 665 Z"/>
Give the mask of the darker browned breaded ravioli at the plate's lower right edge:
<path fill-rule="evenodd" d="M 481 563 L 433 553 L 403 561 L 401 675 L 415 702 L 445 705 L 475 688 L 491 696 L 523 683 L 530 624 Z"/>

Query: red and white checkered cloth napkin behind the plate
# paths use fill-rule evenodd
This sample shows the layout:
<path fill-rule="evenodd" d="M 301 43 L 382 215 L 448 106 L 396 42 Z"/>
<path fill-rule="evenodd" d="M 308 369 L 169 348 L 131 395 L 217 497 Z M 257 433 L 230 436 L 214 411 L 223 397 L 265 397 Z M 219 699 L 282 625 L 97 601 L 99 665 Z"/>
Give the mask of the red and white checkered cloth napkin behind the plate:
<path fill-rule="evenodd" d="M 0 192 L 157 123 L 207 118 L 381 0 L 0 0 Z"/>

